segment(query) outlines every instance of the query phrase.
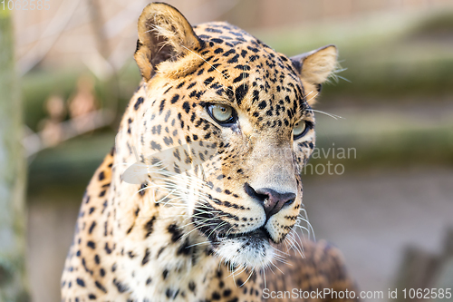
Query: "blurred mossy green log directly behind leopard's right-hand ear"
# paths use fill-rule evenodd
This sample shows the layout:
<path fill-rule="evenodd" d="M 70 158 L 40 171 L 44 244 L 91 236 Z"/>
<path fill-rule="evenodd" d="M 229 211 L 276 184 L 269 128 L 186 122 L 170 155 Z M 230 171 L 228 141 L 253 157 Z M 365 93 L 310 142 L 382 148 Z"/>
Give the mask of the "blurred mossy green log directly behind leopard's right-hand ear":
<path fill-rule="evenodd" d="M 256 34 L 289 55 L 337 45 L 346 68 L 339 75 L 349 83 L 339 79 L 323 91 L 325 97 L 341 95 L 363 103 L 453 93 L 453 12 L 387 19 Z"/>

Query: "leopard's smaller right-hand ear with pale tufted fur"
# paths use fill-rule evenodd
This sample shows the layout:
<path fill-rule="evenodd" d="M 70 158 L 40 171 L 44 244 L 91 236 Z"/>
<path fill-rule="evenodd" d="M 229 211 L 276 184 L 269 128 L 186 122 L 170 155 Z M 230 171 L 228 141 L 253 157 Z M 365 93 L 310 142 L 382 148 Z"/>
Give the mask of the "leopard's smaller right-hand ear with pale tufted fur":
<path fill-rule="evenodd" d="M 295 55 L 291 57 L 291 62 L 301 78 L 321 92 L 322 83 L 335 70 L 337 56 L 336 46 L 326 45 L 309 53 Z"/>

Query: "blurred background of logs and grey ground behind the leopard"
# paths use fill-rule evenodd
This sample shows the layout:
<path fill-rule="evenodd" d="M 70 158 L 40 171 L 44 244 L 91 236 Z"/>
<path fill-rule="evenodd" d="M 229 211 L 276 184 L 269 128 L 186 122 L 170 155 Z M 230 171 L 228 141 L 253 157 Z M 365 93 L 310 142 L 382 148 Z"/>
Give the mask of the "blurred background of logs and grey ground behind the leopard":
<path fill-rule="evenodd" d="M 136 22 L 148 4 L 44 3 L 47 10 L 10 10 L 28 170 L 26 268 L 35 302 L 60 300 L 83 190 L 113 146 L 140 82 L 132 55 Z M 342 118 L 317 114 L 317 146 L 331 152 L 311 163 L 338 170 L 304 175 L 316 239 L 338 246 L 361 289 L 382 290 L 384 300 L 389 288 L 453 286 L 452 1 L 168 3 L 191 24 L 228 21 L 288 55 L 336 44 L 345 70 L 323 86 L 316 109 Z M 341 148 L 354 152 L 333 155 Z"/>

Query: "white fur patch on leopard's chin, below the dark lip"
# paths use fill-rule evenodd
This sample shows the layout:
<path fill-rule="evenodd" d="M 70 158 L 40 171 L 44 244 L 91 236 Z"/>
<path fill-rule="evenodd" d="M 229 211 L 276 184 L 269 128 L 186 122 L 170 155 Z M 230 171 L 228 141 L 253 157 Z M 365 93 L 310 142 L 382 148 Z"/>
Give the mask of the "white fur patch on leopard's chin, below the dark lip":
<path fill-rule="evenodd" d="M 263 268 L 275 255 L 270 243 L 261 239 L 222 239 L 216 249 L 218 257 L 246 268 Z"/>

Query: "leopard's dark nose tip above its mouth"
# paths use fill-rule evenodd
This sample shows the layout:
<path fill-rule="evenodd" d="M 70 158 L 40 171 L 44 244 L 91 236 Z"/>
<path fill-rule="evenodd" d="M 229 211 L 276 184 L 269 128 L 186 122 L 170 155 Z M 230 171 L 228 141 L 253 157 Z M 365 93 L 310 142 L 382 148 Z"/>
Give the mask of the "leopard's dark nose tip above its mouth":
<path fill-rule="evenodd" d="M 269 188 L 254 190 L 248 183 L 246 183 L 245 190 L 249 196 L 262 202 L 266 219 L 278 213 L 284 205 L 293 203 L 296 196 L 292 192 L 280 193 Z"/>

